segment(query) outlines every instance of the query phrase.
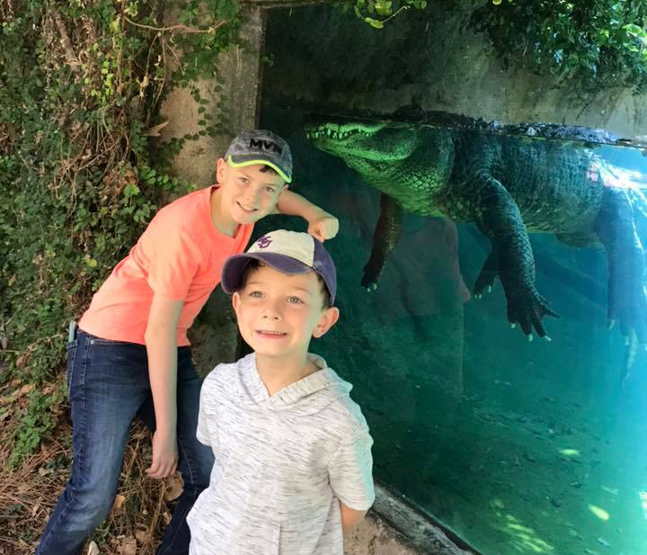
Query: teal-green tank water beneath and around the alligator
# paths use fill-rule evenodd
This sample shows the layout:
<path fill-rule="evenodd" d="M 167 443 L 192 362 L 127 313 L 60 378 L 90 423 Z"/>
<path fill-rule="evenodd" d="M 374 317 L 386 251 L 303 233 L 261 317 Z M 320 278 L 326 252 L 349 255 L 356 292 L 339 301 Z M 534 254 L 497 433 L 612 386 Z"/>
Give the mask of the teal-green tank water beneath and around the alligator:
<path fill-rule="evenodd" d="M 546 321 L 552 343 L 510 329 L 499 283 L 471 298 L 489 250 L 474 225 L 405 214 L 365 291 L 379 192 L 308 143 L 300 116 L 264 105 L 261 124 L 292 145 L 294 190 L 341 221 L 327 244 L 341 321 L 313 350 L 355 385 L 376 478 L 483 555 L 647 553 L 647 354 L 621 388 L 604 252 L 531 235 L 537 288 L 562 317 Z M 257 232 L 277 227 L 302 224 Z"/>

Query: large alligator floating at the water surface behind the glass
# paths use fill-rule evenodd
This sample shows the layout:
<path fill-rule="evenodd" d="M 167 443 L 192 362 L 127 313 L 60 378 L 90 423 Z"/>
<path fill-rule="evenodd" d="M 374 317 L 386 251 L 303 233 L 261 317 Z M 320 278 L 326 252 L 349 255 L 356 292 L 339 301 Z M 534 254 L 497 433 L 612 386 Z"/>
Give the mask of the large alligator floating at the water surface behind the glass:
<path fill-rule="evenodd" d="M 556 127 L 556 126 L 555 126 Z M 474 222 L 492 250 L 474 283 L 480 298 L 499 278 L 511 327 L 546 339 L 545 316 L 559 318 L 536 290 L 527 232 L 554 233 L 572 246 L 607 251 L 609 327 L 647 343 L 647 201 L 606 171 L 594 148 L 487 130 L 402 121 L 311 118 L 306 136 L 341 157 L 382 192 L 381 215 L 362 285 L 375 288 L 400 237 L 403 211 Z"/>

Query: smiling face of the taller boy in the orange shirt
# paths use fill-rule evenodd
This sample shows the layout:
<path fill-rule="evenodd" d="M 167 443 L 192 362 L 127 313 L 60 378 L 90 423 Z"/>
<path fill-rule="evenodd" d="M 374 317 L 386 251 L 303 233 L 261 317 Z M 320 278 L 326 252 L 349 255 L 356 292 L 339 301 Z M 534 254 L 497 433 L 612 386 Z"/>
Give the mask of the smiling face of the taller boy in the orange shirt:
<path fill-rule="evenodd" d="M 247 225 L 270 214 L 287 184 L 268 166 L 234 167 L 217 161 L 217 183 L 222 189 L 222 208 L 236 223 Z"/>

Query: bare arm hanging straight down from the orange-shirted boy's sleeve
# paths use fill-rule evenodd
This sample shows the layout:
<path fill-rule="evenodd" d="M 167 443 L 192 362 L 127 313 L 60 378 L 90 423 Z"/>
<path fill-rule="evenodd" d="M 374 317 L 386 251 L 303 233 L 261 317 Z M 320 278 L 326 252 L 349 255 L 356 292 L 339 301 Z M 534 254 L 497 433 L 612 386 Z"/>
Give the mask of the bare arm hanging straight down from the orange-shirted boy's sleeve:
<path fill-rule="evenodd" d="M 146 469 L 151 478 L 165 478 L 177 467 L 177 345 L 176 328 L 183 300 L 153 296 L 146 332 L 148 377 L 155 407 L 153 461 Z"/>

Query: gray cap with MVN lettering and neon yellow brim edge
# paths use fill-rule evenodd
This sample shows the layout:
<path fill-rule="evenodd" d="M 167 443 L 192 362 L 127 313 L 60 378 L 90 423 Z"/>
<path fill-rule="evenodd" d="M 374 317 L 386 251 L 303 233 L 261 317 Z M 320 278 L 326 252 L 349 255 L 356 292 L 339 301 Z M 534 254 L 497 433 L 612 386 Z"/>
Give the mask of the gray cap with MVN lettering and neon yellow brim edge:
<path fill-rule="evenodd" d="M 229 145 L 225 153 L 227 163 L 234 167 L 264 164 L 292 181 L 292 153 L 285 139 L 267 130 L 243 131 Z"/>

